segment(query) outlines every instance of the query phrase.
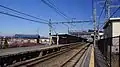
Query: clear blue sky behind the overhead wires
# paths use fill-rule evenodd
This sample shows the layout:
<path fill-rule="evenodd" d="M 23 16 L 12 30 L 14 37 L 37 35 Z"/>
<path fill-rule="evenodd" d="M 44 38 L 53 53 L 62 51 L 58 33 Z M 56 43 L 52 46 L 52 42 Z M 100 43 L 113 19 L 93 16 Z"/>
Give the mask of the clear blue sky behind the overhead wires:
<path fill-rule="evenodd" d="M 91 0 L 50 0 L 56 7 L 64 12 L 67 16 L 71 18 L 76 18 L 75 20 L 90 20 L 92 16 L 91 10 Z M 57 21 L 67 21 L 60 15 L 58 15 L 53 9 L 49 8 L 41 0 L 0 0 L 0 4 L 7 6 L 9 8 L 16 9 L 18 11 L 49 20 L 52 22 Z M 10 10 L 6 10 L 0 7 L 0 11 L 7 13 L 23 16 L 16 14 Z M 98 7 L 98 13 L 100 12 L 100 7 Z M 99 14 L 98 14 L 99 15 Z M 33 19 L 33 18 L 30 18 Z M 36 20 L 36 19 L 35 19 Z M 69 25 L 69 24 L 68 24 Z M 71 30 L 87 30 L 92 29 L 92 23 L 81 23 L 74 24 L 74 26 L 69 25 Z M 58 33 L 67 33 L 67 27 L 65 25 L 59 24 L 53 26 Z M 48 36 L 48 25 L 30 22 L 27 20 L 22 20 L 7 15 L 0 14 L 0 32 L 1 34 L 39 34 L 42 36 Z"/>

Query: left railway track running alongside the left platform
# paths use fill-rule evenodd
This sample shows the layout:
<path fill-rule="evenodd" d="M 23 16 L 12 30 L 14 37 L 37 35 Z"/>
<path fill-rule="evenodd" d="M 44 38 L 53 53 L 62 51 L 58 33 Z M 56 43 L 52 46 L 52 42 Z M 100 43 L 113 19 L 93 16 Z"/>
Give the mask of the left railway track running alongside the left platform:
<path fill-rule="evenodd" d="M 13 64 L 13 65 L 10 65 L 9 67 L 16 67 L 16 66 L 30 67 L 30 66 L 33 66 L 33 65 L 35 65 L 37 63 L 46 61 L 48 59 L 51 59 L 51 58 L 56 57 L 58 55 L 61 55 L 61 54 L 65 53 L 65 52 L 68 52 L 71 49 L 74 49 L 74 48 L 76 48 L 78 46 L 80 46 L 80 45 L 72 45 L 72 46 L 69 45 L 67 48 L 63 47 L 63 48 L 61 48 L 61 50 L 59 50 L 57 52 L 53 52 L 51 54 L 48 54 L 48 55 L 45 55 L 45 56 L 42 56 L 42 57 L 39 56 L 37 58 L 33 58 L 33 59 L 30 59 L 30 60 L 19 62 L 19 63 Z"/>

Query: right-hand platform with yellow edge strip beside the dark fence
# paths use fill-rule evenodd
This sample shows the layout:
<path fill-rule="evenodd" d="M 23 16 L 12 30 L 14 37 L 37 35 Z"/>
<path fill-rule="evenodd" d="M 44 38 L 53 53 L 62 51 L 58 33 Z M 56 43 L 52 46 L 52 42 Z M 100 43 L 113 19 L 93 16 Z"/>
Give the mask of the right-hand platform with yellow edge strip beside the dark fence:
<path fill-rule="evenodd" d="M 89 67 L 110 67 L 97 46 L 91 49 Z"/>

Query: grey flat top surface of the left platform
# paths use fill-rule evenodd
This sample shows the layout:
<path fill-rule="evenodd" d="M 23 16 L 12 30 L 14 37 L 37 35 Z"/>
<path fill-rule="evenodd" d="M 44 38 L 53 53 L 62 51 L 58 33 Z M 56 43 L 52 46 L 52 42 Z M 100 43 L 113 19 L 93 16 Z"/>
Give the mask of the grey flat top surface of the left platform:
<path fill-rule="evenodd" d="M 24 53 L 27 51 L 35 51 L 45 48 L 57 47 L 58 45 L 36 45 L 30 47 L 17 47 L 17 48 L 7 48 L 7 49 L 0 49 L 0 56 L 7 56 L 12 54 Z M 59 45 L 60 46 L 60 45 Z"/>

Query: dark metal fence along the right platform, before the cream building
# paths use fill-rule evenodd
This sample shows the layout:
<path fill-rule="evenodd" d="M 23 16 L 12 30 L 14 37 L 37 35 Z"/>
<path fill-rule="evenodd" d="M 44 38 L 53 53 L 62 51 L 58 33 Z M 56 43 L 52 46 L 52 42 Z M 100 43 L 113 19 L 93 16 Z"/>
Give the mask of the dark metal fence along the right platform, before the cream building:
<path fill-rule="evenodd" d="M 120 36 L 100 39 L 97 46 L 110 67 L 120 67 Z"/>

